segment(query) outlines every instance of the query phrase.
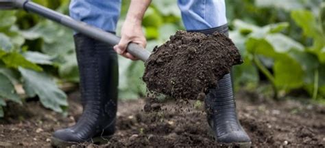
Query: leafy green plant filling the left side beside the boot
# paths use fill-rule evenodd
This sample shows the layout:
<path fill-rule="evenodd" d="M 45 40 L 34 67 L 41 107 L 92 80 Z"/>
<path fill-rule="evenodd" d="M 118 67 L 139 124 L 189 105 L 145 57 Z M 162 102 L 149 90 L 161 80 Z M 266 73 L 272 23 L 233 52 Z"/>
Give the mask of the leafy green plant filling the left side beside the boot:
<path fill-rule="evenodd" d="M 62 113 L 68 105 L 67 95 L 56 85 L 56 74 L 50 69 L 60 69 L 63 62 L 60 62 L 59 52 L 53 52 L 51 44 L 58 44 L 60 33 L 67 32 L 47 20 L 40 20 L 31 29 L 21 30 L 17 24 L 19 14 L 16 11 L 0 13 L 0 117 L 4 115 L 6 100 L 23 104 L 22 96 L 16 91 L 19 85 L 23 85 L 27 97 L 37 95 L 43 106 Z M 37 49 L 39 42 L 41 50 Z M 69 49 L 66 43 L 62 45 L 57 46 L 61 55 Z"/>

